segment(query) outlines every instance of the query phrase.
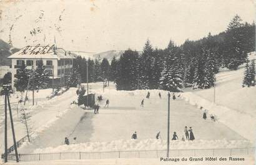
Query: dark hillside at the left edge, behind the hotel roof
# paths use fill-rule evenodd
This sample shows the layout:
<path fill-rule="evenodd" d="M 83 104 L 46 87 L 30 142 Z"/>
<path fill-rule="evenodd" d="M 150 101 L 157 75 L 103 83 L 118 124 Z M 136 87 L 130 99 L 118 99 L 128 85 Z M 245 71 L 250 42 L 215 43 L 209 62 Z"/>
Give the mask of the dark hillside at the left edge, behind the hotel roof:
<path fill-rule="evenodd" d="M 14 54 L 19 49 L 11 47 L 11 45 L 0 39 L 0 66 L 11 65 L 11 60 L 7 59 L 9 55 Z"/>

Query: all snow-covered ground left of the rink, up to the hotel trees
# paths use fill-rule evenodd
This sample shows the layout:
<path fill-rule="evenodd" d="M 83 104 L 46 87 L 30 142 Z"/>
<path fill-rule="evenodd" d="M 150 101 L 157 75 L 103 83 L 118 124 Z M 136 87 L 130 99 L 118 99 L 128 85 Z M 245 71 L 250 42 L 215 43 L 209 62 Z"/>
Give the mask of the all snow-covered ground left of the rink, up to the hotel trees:
<path fill-rule="evenodd" d="M 35 93 L 36 96 L 36 105 L 32 106 L 31 100 L 26 104 L 27 112 L 31 115 L 31 120 L 29 121 L 29 126 L 32 130 L 32 139 L 34 139 L 37 134 L 41 133 L 44 130 L 47 130 L 56 120 L 61 118 L 67 111 L 73 110 L 74 105 L 70 105 L 71 101 L 76 100 L 76 88 L 70 88 L 63 95 L 47 100 L 46 96 L 51 95 L 51 89 L 39 90 L 38 93 Z M 11 101 L 17 99 L 16 97 L 11 97 Z M 39 101 L 40 100 L 40 101 Z M 2 99 L 1 99 L 2 101 Z M 21 106 L 21 105 L 19 105 Z M 16 133 L 16 140 L 26 136 L 25 126 L 20 122 L 19 117 L 17 116 L 17 105 L 12 104 L 12 116 L 14 118 L 14 130 Z M 8 113 L 9 115 L 9 113 Z M 1 120 L 3 123 L 4 120 L 4 106 L 1 106 Z M 12 133 L 11 133 L 11 124 L 9 123 L 9 116 L 7 116 L 7 125 L 8 125 L 8 146 L 13 144 Z M 0 147 L 1 151 L 4 149 L 4 125 L 0 126 Z"/>

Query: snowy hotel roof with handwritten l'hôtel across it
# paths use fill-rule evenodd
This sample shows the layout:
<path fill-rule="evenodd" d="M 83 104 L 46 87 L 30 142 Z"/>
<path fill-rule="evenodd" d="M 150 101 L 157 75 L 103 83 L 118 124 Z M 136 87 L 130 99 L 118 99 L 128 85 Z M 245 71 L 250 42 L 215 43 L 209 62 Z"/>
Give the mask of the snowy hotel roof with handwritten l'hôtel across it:
<path fill-rule="evenodd" d="M 27 46 L 10 55 L 8 59 L 75 59 L 76 54 L 52 46 Z"/>

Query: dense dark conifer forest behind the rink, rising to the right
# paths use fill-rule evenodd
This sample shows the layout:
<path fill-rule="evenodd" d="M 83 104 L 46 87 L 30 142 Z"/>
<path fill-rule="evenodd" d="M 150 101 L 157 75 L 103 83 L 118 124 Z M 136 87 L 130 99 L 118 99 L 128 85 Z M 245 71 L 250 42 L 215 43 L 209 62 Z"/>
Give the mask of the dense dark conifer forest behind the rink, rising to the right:
<path fill-rule="evenodd" d="M 128 49 L 120 59 L 114 58 L 111 62 L 100 57 L 88 59 L 89 82 L 111 80 L 117 90 L 180 92 L 183 87 L 211 88 L 220 67 L 237 70 L 247 62 L 247 53 L 254 50 L 255 24 L 243 23 L 236 15 L 227 30 L 217 35 L 209 33 L 200 40 L 185 40 L 180 46 L 170 40 L 165 49 L 154 49 L 147 40 L 141 54 Z M 81 81 L 86 82 L 86 59 L 78 57 L 75 64 Z M 250 68 L 252 70 L 252 66 Z M 248 85 L 246 82 L 244 84 Z"/>

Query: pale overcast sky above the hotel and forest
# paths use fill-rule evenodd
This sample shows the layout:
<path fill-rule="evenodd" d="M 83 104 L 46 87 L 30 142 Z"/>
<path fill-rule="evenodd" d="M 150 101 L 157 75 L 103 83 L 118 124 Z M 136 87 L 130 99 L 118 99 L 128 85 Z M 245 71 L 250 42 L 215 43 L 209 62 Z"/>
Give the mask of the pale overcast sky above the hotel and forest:
<path fill-rule="evenodd" d="M 255 17 L 253 0 L 1 1 L 0 9 L 0 38 L 14 47 L 53 44 L 55 35 L 58 47 L 86 52 L 142 50 L 147 39 L 180 45 L 225 31 L 235 14 Z"/>

